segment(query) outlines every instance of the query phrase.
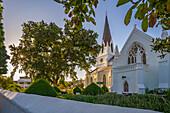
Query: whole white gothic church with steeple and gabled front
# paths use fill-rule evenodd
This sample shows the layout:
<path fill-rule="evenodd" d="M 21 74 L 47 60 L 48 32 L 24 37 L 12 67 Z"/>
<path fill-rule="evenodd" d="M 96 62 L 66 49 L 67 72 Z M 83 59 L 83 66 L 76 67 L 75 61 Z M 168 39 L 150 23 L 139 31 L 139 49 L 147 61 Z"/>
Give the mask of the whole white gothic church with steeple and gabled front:
<path fill-rule="evenodd" d="M 167 31 L 163 31 L 161 38 L 167 36 Z M 85 76 L 85 87 L 91 82 L 103 83 L 110 92 L 118 94 L 144 94 L 145 88 L 170 88 L 170 54 L 157 58 L 159 54 L 151 52 L 152 39 L 134 26 L 119 52 L 118 46 L 114 48 L 106 16 L 102 49 L 96 69 Z"/>

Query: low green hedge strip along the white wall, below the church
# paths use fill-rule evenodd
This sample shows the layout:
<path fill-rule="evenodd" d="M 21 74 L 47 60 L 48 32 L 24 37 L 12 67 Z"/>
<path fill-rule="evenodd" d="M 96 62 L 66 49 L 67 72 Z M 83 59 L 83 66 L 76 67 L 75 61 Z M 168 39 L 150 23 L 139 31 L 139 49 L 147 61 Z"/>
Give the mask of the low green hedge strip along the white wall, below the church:
<path fill-rule="evenodd" d="M 170 113 L 170 100 L 160 97 L 158 95 L 143 95 L 143 94 L 129 96 L 117 94 L 105 94 L 97 96 L 62 95 L 59 98 L 65 98 L 94 104 L 106 104 Z"/>

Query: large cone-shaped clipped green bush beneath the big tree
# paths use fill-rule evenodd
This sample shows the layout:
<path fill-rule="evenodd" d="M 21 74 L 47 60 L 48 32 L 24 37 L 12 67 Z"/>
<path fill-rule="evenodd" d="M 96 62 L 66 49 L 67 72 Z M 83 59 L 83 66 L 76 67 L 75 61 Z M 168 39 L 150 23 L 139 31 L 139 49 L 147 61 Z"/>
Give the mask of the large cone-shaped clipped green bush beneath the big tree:
<path fill-rule="evenodd" d="M 32 83 L 32 85 L 25 90 L 25 93 L 51 97 L 57 96 L 54 88 L 44 79 L 39 79 Z"/>

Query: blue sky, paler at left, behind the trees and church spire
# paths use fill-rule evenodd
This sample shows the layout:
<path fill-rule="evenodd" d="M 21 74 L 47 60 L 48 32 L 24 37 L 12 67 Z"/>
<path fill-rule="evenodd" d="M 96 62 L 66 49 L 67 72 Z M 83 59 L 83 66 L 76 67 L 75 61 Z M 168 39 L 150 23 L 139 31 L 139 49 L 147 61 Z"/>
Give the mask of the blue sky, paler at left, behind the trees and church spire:
<path fill-rule="evenodd" d="M 5 46 L 10 55 L 9 45 L 19 44 L 19 39 L 22 35 L 22 24 L 28 21 L 39 22 L 44 20 L 47 23 L 55 22 L 59 27 L 64 27 L 64 18 L 68 18 L 68 15 L 64 13 L 64 8 L 61 4 L 56 3 L 54 0 L 3 0 L 3 23 L 5 31 Z M 111 31 L 112 40 L 115 45 L 118 45 L 119 51 L 128 39 L 134 24 L 137 25 L 137 29 L 141 29 L 141 21 L 134 19 L 134 12 L 130 24 L 126 26 L 124 24 L 124 17 L 128 9 L 132 6 L 131 3 L 125 4 L 120 7 L 116 7 L 118 0 L 99 0 L 99 4 L 95 9 L 96 12 L 96 25 L 92 23 L 84 23 L 86 29 L 92 29 L 99 34 L 98 43 L 101 44 L 104 22 L 107 11 L 107 17 L 109 21 L 109 27 Z M 162 33 L 161 26 L 157 28 L 149 28 L 146 34 L 156 38 L 160 37 Z M 170 32 L 168 31 L 170 34 Z M 10 62 L 10 61 L 8 61 Z M 13 67 L 8 63 L 8 73 Z M 85 71 L 76 69 L 78 78 L 85 77 Z M 25 76 L 24 73 L 15 73 L 14 80 L 18 80 L 20 76 Z M 69 79 L 69 78 L 68 78 Z"/>

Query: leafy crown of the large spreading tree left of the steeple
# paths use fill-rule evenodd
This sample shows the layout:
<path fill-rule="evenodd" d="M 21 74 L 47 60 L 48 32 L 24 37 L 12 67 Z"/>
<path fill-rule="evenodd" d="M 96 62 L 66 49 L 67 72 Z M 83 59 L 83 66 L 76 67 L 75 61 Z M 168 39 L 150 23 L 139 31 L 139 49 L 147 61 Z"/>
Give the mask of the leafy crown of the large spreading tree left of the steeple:
<path fill-rule="evenodd" d="M 44 78 L 54 86 L 61 77 L 76 77 L 75 67 L 88 71 L 96 62 L 100 45 L 97 33 L 71 26 L 64 29 L 42 22 L 24 23 L 19 46 L 10 45 L 14 70 L 24 71 L 32 79 Z M 20 68 L 19 68 L 20 67 Z"/>

